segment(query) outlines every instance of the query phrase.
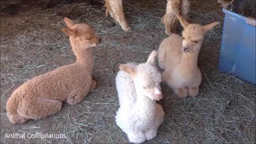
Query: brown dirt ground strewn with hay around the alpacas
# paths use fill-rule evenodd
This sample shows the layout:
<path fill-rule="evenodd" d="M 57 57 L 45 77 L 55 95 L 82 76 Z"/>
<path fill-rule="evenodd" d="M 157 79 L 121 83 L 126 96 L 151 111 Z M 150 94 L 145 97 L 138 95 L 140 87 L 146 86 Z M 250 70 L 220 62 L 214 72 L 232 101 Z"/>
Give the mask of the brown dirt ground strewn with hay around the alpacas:
<path fill-rule="evenodd" d="M 133 31 L 105 17 L 103 1 L 1 1 L 1 143 L 129 143 L 115 124 L 119 107 L 115 76 L 119 63 L 145 62 L 163 38 L 166 0 L 124 1 Z M 12 5 L 10 5 L 12 4 Z M 203 82 L 195 98 L 179 98 L 162 84 L 165 118 L 146 143 L 255 143 L 255 86 L 218 71 L 224 14 L 216 1 L 192 1 L 190 22 L 219 21 L 205 36 L 198 65 Z M 44 119 L 11 124 L 6 100 L 28 79 L 75 61 L 63 17 L 91 25 L 103 39 L 93 48 L 97 89 L 82 102 Z M 177 33 L 181 33 L 181 27 Z M 65 139 L 13 139 L 5 134 L 66 134 Z"/>

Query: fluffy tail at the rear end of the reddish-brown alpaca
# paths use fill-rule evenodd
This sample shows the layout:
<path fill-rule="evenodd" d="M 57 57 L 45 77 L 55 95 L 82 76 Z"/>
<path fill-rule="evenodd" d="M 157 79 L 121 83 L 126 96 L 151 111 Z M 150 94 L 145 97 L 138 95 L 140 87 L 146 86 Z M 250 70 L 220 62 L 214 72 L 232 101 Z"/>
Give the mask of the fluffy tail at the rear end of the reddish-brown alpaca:
<path fill-rule="evenodd" d="M 17 112 L 18 104 L 19 101 L 17 95 L 11 95 L 6 103 L 7 117 L 9 118 L 9 121 L 14 124 L 19 123 L 21 120 L 21 116 Z"/>

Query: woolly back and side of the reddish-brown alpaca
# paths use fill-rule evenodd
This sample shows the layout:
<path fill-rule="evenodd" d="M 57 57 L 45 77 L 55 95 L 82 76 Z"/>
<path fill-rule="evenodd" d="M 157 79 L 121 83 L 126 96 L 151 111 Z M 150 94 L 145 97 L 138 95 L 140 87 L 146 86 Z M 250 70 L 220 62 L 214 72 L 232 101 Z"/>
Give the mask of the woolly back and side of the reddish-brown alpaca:
<path fill-rule="evenodd" d="M 91 69 L 73 63 L 39 75 L 19 87 L 27 98 L 46 98 L 65 101 L 74 89 L 90 87 Z M 86 82 L 86 83 L 84 83 Z"/>

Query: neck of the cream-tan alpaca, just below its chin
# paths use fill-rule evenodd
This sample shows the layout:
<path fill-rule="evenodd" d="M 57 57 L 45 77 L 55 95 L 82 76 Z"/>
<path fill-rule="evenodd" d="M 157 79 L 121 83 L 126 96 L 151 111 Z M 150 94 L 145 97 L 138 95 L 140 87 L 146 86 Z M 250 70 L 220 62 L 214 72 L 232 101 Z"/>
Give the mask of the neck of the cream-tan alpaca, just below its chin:
<path fill-rule="evenodd" d="M 199 50 L 194 52 L 188 52 L 188 53 L 183 52 L 180 60 L 180 68 L 196 69 L 198 54 L 199 54 Z"/>

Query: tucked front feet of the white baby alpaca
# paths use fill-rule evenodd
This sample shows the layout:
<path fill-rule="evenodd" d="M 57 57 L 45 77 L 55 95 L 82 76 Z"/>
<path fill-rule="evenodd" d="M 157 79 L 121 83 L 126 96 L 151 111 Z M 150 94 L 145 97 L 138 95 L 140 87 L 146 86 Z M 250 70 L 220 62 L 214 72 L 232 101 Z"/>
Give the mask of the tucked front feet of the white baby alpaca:
<path fill-rule="evenodd" d="M 145 134 L 141 131 L 131 131 L 127 133 L 129 141 L 133 143 L 142 143 L 146 141 Z"/>

